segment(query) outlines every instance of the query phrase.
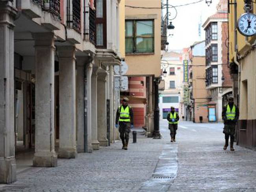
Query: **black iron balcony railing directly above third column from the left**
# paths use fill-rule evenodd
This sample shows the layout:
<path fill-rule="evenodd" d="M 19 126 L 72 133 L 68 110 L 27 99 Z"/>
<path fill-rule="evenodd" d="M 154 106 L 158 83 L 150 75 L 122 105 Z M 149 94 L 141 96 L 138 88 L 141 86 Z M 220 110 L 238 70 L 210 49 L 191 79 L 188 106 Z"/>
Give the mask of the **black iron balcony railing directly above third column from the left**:
<path fill-rule="evenodd" d="M 67 1 L 67 26 L 81 33 L 81 1 L 80 0 L 72 0 L 72 4 L 71 4 L 71 0 Z"/>

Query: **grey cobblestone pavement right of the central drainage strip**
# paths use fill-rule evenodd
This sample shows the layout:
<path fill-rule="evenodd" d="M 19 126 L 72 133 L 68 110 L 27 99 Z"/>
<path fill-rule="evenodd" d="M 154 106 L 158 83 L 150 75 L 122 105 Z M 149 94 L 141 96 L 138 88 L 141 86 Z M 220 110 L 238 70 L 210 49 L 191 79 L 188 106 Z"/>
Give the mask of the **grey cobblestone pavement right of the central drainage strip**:
<path fill-rule="evenodd" d="M 256 192 L 256 152 L 224 151 L 222 124 L 181 124 L 172 192 Z"/>

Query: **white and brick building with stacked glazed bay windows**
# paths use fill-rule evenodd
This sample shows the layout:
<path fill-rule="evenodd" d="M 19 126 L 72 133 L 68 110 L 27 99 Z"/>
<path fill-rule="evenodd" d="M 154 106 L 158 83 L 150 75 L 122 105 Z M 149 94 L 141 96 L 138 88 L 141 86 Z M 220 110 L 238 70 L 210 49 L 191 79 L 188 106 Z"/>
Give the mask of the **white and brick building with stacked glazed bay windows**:
<path fill-rule="evenodd" d="M 206 89 L 209 90 L 208 121 L 222 122 L 222 109 L 228 95 L 232 95 L 232 79 L 228 72 L 227 0 L 220 0 L 217 13 L 202 25 L 206 31 Z"/>

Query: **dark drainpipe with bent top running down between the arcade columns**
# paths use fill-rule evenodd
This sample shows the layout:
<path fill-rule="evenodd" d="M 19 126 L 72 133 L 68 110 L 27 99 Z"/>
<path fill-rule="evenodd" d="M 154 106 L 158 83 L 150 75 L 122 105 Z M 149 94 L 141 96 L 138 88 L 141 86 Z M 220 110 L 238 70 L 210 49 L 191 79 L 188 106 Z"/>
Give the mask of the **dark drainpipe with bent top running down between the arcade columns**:
<path fill-rule="evenodd" d="M 86 67 L 88 65 L 90 65 L 90 63 L 93 61 L 93 57 L 91 55 L 89 55 L 89 58 L 87 60 L 87 62 L 84 64 L 84 67 L 83 67 L 83 79 L 84 79 L 84 83 L 83 83 L 83 98 L 84 98 L 84 102 L 83 102 L 83 113 L 84 113 L 84 118 L 83 118 L 83 124 L 84 124 L 84 152 L 85 153 L 88 153 L 88 126 L 87 126 L 87 78 L 90 78 L 90 77 L 87 77 L 87 70 L 86 70 Z"/>

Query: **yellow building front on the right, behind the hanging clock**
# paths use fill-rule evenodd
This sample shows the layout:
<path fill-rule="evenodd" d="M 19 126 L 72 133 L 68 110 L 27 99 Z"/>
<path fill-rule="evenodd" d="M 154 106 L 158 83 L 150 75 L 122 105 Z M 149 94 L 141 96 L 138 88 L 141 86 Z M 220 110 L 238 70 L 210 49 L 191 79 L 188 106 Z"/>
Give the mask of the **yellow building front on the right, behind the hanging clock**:
<path fill-rule="evenodd" d="M 237 20 L 245 13 L 244 1 L 231 0 L 229 22 L 229 64 L 234 80 L 234 98 L 239 107 L 237 123 L 237 144 L 249 148 L 256 147 L 256 60 L 255 35 L 245 37 L 237 31 Z M 256 14 L 253 2 L 249 11 Z"/>

